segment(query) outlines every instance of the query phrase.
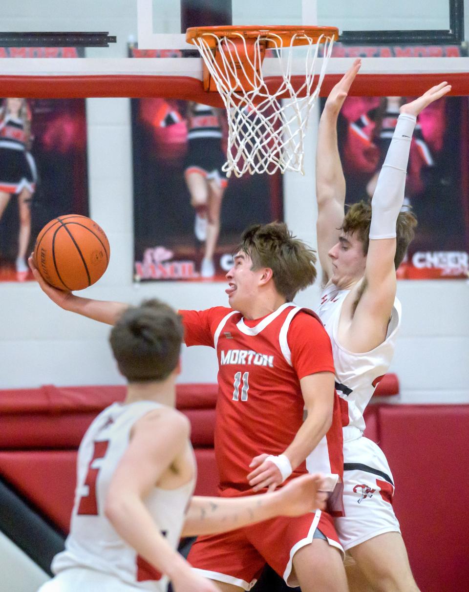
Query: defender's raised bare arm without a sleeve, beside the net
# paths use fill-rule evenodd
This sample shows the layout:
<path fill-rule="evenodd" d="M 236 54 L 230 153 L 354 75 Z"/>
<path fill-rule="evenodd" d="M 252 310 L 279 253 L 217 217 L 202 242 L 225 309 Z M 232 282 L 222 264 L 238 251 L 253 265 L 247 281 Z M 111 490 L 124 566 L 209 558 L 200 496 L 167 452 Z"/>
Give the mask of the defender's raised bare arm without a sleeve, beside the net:
<path fill-rule="evenodd" d="M 326 284 L 332 273 L 327 253 L 339 239 L 345 204 L 345 178 L 340 163 L 337 120 L 361 62 L 354 65 L 330 91 L 319 122 L 316 148 L 317 250 Z"/>

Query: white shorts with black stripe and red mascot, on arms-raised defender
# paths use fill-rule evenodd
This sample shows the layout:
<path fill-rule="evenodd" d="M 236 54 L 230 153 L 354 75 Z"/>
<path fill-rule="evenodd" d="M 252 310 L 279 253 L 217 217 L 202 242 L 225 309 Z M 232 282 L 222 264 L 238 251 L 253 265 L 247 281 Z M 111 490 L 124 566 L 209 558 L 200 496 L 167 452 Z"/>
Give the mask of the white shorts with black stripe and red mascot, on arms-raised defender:
<path fill-rule="evenodd" d="M 343 506 L 334 520 L 345 551 L 385 532 L 399 532 L 394 479 L 381 448 L 358 429 L 344 429 Z"/>

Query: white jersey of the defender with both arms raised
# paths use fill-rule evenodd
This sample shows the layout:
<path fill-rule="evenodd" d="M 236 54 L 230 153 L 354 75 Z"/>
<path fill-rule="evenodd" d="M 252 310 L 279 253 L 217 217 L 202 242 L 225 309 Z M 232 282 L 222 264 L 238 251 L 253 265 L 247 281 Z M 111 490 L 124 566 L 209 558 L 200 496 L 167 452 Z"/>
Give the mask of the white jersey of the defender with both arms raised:
<path fill-rule="evenodd" d="M 350 290 L 339 290 L 334 284 L 326 286 L 316 313 L 321 318 L 330 341 L 335 366 L 335 387 L 339 397 L 348 404 L 349 426 L 365 429 L 363 412 L 373 392 L 391 364 L 400 327 L 401 305 L 394 299 L 386 339 L 370 352 L 353 353 L 338 342 L 338 327 L 342 304 Z"/>

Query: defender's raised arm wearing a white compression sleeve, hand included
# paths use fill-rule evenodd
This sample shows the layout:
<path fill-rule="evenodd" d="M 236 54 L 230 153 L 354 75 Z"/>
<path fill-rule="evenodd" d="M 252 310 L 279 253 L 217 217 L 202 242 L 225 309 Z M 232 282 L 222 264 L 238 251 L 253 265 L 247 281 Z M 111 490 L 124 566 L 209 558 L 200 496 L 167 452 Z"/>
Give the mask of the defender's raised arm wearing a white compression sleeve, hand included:
<path fill-rule="evenodd" d="M 371 349 L 380 343 L 373 334 L 387 327 L 396 295 L 396 222 L 404 201 L 410 142 L 417 115 L 451 90 L 446 82 L 433 86 L 400 108 L 399 119 L 371 201 L 370 246 L 365 266 L 365 289 L 356 306 L 350 332 L 360 327 L 369 334 Z M 382 331 L 381 331 L 382 333 Z M 382 340 L 382 339 L 381 339 Z M 364 349 L 360 349 L 364 351 Z"/>

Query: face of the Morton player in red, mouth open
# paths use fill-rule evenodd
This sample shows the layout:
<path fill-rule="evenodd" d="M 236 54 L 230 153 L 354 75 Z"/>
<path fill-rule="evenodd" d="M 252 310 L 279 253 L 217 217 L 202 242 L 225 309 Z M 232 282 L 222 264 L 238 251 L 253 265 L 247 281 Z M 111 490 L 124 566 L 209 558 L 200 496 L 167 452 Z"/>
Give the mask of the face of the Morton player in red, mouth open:
<path fill-rule="evenodd" d="M 259 277 L 262 271 L 252 271 L 252 260 L 243 251 L 234 255 L 233 267 L 226 274 L 228 302 L 234 310 L 247 314 L 253 300 L 258 296 Z"/>

